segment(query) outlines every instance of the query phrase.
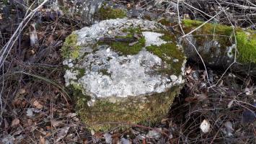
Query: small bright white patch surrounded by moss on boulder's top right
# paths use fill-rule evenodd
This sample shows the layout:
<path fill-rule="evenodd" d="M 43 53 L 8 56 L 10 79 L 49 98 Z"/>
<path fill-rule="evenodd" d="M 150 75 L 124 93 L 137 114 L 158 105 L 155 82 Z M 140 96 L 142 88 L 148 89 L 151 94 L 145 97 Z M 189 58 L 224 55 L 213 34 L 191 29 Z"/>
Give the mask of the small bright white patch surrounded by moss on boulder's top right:
<path fill-rule="evenodd" d="M 160 37 L 163 36 L 164 34 L 161 33 L 157 33 L 157 32 L 142 32 L 142 35 L 144 35 L 145 40 L 146 40 L 146 46 L 150 46 L 150 45 L 162 45 L 165 42 L 164 40 L 162 40 Z"/>

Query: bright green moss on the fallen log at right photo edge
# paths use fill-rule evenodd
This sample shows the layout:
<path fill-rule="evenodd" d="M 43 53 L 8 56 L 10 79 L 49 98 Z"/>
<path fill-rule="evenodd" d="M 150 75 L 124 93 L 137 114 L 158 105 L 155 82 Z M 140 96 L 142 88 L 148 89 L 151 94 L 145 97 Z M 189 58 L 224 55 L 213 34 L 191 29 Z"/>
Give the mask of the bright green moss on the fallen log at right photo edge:
<path fill-rule="evenodd" d="M 237 50 L 239 61 L 242 63 L 256 63 L 256 34 L 237 32 Z"/>

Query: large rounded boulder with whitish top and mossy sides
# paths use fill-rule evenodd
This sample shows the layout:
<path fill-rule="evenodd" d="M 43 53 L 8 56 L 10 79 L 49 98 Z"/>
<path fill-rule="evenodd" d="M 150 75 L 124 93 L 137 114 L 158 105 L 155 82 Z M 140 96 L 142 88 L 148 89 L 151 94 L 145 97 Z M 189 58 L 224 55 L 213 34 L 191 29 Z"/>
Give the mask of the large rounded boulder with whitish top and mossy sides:
<path fill-rule="evenodd" d="M 182 48 L 157 22 L 104 20 L 69 35 L 62 55 L 77 112 L 94 130 L 159 122 L 184 83 Z"/>

